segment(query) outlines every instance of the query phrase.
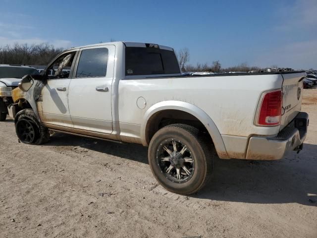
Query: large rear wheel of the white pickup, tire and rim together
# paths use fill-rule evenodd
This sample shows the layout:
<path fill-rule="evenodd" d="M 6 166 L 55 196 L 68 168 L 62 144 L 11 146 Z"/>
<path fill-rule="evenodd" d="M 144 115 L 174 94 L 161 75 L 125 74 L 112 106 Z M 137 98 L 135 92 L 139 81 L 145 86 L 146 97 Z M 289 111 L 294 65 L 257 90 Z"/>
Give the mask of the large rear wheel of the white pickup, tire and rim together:
<path fill-rule="evenodd" d="M 172 124 L 159 129 L 149 146 L 149 164 L 167 190 L 192 194 L 209 180 L 213 169 L 211 141 L 193 126 Z"/>

